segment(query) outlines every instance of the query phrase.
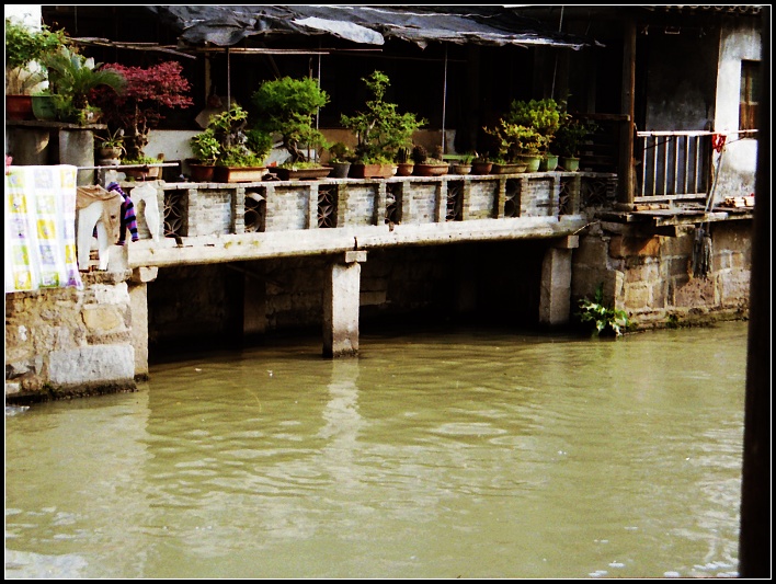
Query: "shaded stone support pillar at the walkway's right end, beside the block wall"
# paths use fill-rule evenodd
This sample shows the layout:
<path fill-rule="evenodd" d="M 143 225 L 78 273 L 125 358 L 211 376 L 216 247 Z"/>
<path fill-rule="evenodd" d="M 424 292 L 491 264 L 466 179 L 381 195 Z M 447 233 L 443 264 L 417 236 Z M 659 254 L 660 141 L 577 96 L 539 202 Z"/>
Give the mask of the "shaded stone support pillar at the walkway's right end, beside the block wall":
<path fill-rule="evenodd" d="M 579 236 L 562 238 L 545 252 L 539 290 L 539 322 L 567 324 L 571 317 L 571 251 Z"/>

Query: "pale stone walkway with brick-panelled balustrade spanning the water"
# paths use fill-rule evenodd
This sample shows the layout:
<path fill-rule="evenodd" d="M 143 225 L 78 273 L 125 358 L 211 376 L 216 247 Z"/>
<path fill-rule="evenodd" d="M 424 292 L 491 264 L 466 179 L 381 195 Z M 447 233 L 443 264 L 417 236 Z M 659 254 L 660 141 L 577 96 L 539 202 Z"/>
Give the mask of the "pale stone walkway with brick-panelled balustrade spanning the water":
<path fill-rule="evenodd" d="M 596 182 L 613 193 L 616 176 L 539 172 L 157 183 L 163 237 L 126 245 L 122 263 L 164 267 L 393 245 L 564 238 L 585 226 L 581 193 L 583 185 Z"/>

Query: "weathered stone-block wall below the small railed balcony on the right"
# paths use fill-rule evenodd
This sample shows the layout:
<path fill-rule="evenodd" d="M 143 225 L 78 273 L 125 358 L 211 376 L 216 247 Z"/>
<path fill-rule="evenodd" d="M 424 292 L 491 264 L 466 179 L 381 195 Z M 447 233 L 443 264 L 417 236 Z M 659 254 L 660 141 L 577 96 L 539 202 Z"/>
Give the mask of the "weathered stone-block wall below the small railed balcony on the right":
<path fill-rule="evenodd" d="M 705 277 L 694 276 L 695 229 L 677 237 L 637 237 L 634 228 L 596 224 L 572 256 L 572 301 L 592 298 L 604 284 L 604 299 L 628 312 L 637 328 L 698 324 L 749 313 L 750 220 L 711 224 L 711 261 Z"/>

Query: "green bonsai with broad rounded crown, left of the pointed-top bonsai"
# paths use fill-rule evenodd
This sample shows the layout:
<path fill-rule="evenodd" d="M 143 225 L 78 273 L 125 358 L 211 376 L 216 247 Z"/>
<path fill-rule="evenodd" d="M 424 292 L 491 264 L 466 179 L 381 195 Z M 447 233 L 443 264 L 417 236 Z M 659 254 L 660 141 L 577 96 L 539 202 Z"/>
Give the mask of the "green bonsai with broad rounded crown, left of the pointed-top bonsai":
<path fill-rule="evenodd" d="M 298 167 L 311 162 L 310 150 L 317 161 L 318 149 L 328 148 L 323 135 L 312 127 L 318 111 L 329 103 L 329 95 L 315 80 L 284 77 L 264 81 L 251 101 L 256 117 L 255 129 L 279 134 L 292 164 Z"/>

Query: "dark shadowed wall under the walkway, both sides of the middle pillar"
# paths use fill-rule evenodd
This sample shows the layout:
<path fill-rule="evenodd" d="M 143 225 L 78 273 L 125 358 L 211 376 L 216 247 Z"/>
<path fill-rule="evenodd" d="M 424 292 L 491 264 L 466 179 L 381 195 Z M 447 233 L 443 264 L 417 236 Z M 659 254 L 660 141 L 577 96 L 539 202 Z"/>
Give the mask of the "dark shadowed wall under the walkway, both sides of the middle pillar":
<path fill-rule="evenodd" d="M 372 250 L 361 265 L 361 325 L 465 318 L 536 325 L 547 245 L 505 241 Z M 168 351 L 239 345 L 243 333 L 253 341 L 320 331 L 330 261 L 159 268 L 148 285 L 151 360 Z"/>

